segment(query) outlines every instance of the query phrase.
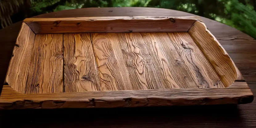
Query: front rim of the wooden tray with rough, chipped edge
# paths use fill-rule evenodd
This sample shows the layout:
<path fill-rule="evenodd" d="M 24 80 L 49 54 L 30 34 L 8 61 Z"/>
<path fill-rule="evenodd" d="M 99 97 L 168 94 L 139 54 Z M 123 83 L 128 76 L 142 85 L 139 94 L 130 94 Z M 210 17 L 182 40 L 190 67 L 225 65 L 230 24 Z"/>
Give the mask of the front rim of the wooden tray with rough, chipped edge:
<path fill-rule="evenodd" d="M 216 105 L 252 101 L 253 94 L 246 82 L 234 82 L 228 88 L 218 89 L 149 89 L 50 94 L 21 94 L 4 85 L 0 109 Z"/>

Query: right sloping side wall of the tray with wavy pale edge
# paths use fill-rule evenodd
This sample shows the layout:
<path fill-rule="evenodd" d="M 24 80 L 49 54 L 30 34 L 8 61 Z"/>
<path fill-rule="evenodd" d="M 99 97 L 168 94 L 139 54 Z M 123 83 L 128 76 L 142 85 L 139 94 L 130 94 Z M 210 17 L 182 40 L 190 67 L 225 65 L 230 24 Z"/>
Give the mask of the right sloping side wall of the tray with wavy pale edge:
<path fill-rule="evenodd" d="M 188 33 L 212 64 L 225 87 L 231 85 L 239 77 L 237 73 L 239 71 L 228 53 L 206 28 L 205 24 L 196 21 Z"/>

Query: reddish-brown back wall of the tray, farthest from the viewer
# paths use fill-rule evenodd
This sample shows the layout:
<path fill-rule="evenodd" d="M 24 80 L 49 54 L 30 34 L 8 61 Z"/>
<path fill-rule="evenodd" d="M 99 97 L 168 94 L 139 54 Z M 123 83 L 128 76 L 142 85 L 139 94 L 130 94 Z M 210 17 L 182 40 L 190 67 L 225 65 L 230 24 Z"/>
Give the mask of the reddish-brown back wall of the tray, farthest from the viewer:
<path fill-rule="evenodd" d="M 200 17 L 80 17 L 27 18 L 36 33 L 186 32 Z"/>

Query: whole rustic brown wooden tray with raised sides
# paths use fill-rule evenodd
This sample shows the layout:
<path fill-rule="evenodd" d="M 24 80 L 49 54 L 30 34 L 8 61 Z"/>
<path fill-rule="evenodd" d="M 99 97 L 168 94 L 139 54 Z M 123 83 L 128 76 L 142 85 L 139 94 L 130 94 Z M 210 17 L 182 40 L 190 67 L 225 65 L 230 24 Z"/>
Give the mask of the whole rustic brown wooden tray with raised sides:
<path fill-rule="evenodd" d="M 200 17 L 23 21 L 0 108 L 242 104 L 250 88 Z"/>

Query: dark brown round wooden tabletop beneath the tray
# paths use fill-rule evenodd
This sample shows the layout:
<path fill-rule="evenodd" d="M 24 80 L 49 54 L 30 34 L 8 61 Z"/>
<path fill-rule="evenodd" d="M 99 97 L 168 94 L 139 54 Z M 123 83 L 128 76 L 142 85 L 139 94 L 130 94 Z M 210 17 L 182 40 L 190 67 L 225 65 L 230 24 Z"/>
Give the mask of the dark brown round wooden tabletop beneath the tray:
<path fill-rule="evenodd" d="M 63 10 L 34 18 L 100 16 L 194 16 L 160 8 L 120 7 Z M 256 41 L 225 24 L 201 17 L 256 94 Z M 3 83 L 21 22 L 0 30 Z M 24 109 L 0 111 L 0 127 L 256 127 L 256 101 L 244 105 L 203 105 L 114 109 Z"/>

